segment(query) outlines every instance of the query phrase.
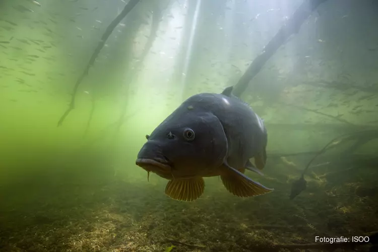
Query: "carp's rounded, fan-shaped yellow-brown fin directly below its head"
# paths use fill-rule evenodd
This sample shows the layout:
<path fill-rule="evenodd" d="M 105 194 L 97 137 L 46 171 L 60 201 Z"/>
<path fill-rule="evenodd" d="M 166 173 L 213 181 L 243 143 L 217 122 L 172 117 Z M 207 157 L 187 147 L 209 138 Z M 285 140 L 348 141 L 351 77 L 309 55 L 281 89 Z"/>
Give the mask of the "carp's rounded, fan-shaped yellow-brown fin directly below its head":
<path fill-rule="evenodd" d="M 178 178 L 169 180 L 165 187 L 165 194 L 178 201 L 194 201 L 205 190 L 205 181 L 202 177 Z"/>

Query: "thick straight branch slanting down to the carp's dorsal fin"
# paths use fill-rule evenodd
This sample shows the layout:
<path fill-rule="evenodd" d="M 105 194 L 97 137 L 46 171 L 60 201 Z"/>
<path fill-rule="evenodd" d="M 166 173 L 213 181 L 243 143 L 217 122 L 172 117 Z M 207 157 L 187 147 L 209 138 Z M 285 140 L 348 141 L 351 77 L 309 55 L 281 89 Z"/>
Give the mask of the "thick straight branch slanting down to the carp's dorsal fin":
<path fill-rule="evenodd" d="M 260 72 L 265 63 L 278 50 L 278 48 L 287 41 L 290 35 L 298 33 L 302 23 L 309 17 L 311 12 L 327 0 L 309 0 L 304 1 L 295 11 L 291 19 L 281 27 L 277 34 L 265 46 L 264 51 L 257 56 L 249 65 L 244 75 L 234 86 L 233 94 L 240 97 L 247 89 L 249 82 Z"/>

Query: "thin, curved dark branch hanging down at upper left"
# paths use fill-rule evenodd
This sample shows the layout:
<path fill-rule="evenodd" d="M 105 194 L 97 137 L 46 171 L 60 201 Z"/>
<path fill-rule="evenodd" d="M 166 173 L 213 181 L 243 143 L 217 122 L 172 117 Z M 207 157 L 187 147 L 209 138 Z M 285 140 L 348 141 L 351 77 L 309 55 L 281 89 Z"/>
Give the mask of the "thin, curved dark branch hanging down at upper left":
<path fill-rule="evenodd" d="M 79 77 L 79 79 L 76 81 L 74 90 L 72 92 L 72 98 L 70 105 L 68 109 L 65 111 L 65 113 L 60 117 L 58 121 L 58 127 L 63 123 L 67 115 L 75 108 L 75 97 L 76 93 L 78 91 L 79 85 L 83 81 L 84 77 L 88 75 L 89 69 L 91 66 L 93 66 L 95 59 L 97 58 L 98 54 L 100 53 L 102 47 L 104 47 L 106 40 L 109 38 L 110 34 L 113 32 L 114 28 L 121 22 L 121 20 L 131 11 L 133 8 L 140 2 L 140 0 L 130 0 L 127 5 L 123 8 L 122 12 L 109 24 L 109 26 L 106 28 L 104 34 L 101 36 L 101 40 L 98 42 L 98 45 L 95 49 L 95 51 L 92 54 L 91 59 L 89 60 L 87 66 L 84 69 L 84 72 Z"/>

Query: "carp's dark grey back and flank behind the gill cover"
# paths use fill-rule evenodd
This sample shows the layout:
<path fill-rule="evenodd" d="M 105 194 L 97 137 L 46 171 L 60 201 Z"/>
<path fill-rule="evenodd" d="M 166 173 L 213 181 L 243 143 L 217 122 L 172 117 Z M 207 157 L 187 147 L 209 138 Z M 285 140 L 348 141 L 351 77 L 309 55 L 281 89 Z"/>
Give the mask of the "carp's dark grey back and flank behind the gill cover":
<path fill-rule="evenodd" d="M 171 116 L 184 113 L 188 106 L 193 106 L 191 113 L 210 112 L 219 119 L 227 138 L 230 166 L 241 169 L 250 158 L 265 150 L 268 137 L 263 120 L 240 99 L 223 94 L 198 94 L 188 98 Z"/>

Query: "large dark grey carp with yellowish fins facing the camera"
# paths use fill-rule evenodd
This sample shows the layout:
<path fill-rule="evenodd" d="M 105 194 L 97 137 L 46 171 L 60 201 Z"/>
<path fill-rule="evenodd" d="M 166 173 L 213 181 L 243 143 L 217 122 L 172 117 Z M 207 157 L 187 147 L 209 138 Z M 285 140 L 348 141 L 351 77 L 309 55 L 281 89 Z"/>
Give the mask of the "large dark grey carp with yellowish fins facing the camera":
<path fill-rule="evenodd" d="M 268 134 L 263 119 L 232 95 L 232 86 L 220 94 L 191 96 L 146 139 L 136 164 L 147 171 L 147 180 L 150 172 L 168 179 L 165 194 L 174 200 L 198 199 L 204 177 L 212 176 L 220 176 L 227 191 L 238 197 L 274 190 L 244 174 L 262 174 Z"/>

